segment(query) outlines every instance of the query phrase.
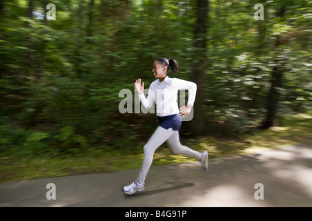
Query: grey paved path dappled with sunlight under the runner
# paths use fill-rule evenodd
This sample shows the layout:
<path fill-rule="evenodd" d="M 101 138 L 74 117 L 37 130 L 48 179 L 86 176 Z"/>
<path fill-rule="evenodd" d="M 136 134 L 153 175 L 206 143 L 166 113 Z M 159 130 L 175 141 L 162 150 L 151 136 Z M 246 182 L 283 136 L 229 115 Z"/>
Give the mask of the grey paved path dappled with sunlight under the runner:
<path fill-rule="evenodd" d="M 139 169 L 0 183 L 0 206 L 312 206 L 312 143 L 249 155 L 152 166 L 146 190 L 124 195 Z M 56 186 L 47 200 L 46 184 Z M 263 184 L 263 200 L 254 189 Z"/>

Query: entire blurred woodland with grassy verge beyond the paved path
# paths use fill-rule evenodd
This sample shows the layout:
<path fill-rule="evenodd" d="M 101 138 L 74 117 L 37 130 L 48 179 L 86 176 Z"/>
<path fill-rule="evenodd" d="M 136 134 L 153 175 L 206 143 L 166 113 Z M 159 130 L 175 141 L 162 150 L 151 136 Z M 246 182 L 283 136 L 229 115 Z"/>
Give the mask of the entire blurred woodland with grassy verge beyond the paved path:
<path fill-rule="evenodd" d="M 311 19 L 311 0 L 0 0 L 0 181 L 141 166 L 157 118 L 119 113 L 119 91 L 148 88 L 157 57 L 198 84 L 191 148 L 311 139 Z"/>

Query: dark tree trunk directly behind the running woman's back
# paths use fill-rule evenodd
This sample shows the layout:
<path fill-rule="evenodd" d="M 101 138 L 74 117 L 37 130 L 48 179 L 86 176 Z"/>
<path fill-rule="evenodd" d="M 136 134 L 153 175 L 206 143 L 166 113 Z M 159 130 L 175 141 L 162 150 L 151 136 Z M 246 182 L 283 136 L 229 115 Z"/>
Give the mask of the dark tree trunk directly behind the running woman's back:
<path fill-rule="evenodd" d="M 192 69 L 192 81 L 197 84 L 196 102 L 193 106 L 193 119 L 190 122 L 189 129 L 195 135 L 200 135 L 204 131 L 204 99 L 205 99 L 205 70 L 206 62 L 206 35 L 207 35 L 207 17 L 208 0 L 197 0 L 196 23 L 194 29 L 194 48 L 196 50 L 196 61 Z"/>

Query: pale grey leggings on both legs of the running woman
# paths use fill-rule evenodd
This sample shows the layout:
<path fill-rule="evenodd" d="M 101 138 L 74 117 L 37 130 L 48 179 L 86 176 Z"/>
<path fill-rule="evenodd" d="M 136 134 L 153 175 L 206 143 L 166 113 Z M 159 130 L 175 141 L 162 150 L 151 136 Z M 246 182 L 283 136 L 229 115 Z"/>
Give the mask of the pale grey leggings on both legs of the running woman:
<path fill-rule="evenodd" d="M 180 153 L 200 160 L 201 154 L 198 151 L 193 151 L 191 148 L 183 146 L 180 143 L 178 131 L 173 131 L 172 128 L 168 128 L 168 130 L 166 130 L 165 128 L 162 128 L 162 126 L 158 126 L 148 142 L 144 145 L 144 159 L 141 171 L 137 177 L 137 182 L 139 182 L 139 184 L 143 184 L 145 182 L 146 175 L 150 169 L 150 165 L 153 162 L 154 152 L 165 141 L 173 153 Z"/>

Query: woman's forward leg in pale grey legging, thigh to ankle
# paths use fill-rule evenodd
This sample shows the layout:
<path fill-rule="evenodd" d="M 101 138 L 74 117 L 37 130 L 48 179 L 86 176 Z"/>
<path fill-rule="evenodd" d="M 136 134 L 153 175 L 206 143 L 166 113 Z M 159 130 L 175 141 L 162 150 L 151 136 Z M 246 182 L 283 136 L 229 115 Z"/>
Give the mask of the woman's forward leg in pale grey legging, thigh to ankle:
<path fill-rule="evenodd" d="M 145 182 L 145 178 L 148 170 L 150 169 L 150 165 L 153 162 L 153 155 L 156 149 L 162 145 L 168 137 L 171 137 L 173 132 L 172 128 L 168 128 L 168 130 L 166 130 L 165 128 L 162 128 L 162 126 L 158 126 L 148 142 L 144 145 L 144 159 L 141 171 L 137 177 L 137 182 L 139 184 L 144 184 Z"/>

